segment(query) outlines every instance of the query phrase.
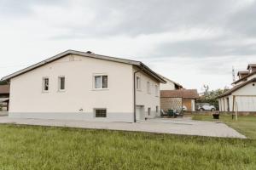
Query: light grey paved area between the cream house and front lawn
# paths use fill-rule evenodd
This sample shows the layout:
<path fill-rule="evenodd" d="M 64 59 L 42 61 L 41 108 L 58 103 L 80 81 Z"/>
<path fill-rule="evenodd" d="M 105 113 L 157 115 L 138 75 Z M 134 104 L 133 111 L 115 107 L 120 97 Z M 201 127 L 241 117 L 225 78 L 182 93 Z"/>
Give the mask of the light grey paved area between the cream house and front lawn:
<path fill-rule="evenodd" d="M 189 118 L 155 118 L 147 122 L 126 123 L 126 122 L 85 122 L 70 120 L 43 120 L 43 119 L 17 119 L 8 116 L 0 116 L 0 123 L 15 123 L 24 125 L 41 125 L 55 127 L 82 127 L 96 129 L 111 129 L 138 131 L 150 133 L 173 133 L 199 136 L 241 138 L 246 137 L 236 132 L 233 128 L 224 123 L 193 121 Z"/>

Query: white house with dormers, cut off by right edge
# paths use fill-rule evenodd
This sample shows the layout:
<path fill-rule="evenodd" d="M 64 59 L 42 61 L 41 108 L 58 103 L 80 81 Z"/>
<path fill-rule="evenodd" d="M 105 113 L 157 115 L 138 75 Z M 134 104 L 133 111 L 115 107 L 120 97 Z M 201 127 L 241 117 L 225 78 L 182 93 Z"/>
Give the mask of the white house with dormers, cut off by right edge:
<path fill-rule="evenodd" d="M 256 64 L 239 71 L 233 88 L 218 96 L 219 111 L 256 111 Z"/>

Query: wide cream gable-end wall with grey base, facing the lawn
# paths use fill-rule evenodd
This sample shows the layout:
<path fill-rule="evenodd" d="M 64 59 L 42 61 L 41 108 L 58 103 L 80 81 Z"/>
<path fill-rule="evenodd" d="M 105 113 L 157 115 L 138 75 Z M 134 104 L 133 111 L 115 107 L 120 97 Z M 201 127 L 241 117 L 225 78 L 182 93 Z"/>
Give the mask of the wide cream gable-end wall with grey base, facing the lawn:
<path fill-rule="evenodd" d="M 77 55 L 75 61 L 69 58 L 12 78 L 9 115 L 133 122 L 132 65 Z M 108 75 L 108 89 L 93 88 L 94 74 Z M 59 76 L 66 77 L 65 92 L 58 92 Z M 49 77 L 49 93 L 42 92 L 43 77 Z M 108 117 L 95 118 L 95 108 L 106 108 Z"/>

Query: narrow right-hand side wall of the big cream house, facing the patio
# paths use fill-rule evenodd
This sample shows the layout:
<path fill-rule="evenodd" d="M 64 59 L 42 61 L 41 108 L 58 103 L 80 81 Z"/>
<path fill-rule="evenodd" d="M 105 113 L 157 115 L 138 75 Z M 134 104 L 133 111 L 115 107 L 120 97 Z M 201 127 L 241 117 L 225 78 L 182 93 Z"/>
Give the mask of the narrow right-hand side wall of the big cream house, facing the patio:
<path fill-rule="evenodd" d="M 136 67 L 134 71 L 137 71 Z M 160 83 L 143 72 L 137 72 L 136 76 L 141 78 L 141 89 L 136 91 L 136 105 L 143 105 L 145 117 L 160 116 Z M 147 82 L 150 82 L 149 94 Z M 158 86 L 157 94 L 155 94 L 155 85 Z M 156 112 L 156 106 L 158 106 L 158 112 Z M 148 108 L 151 108 L 149 116 Z"/>

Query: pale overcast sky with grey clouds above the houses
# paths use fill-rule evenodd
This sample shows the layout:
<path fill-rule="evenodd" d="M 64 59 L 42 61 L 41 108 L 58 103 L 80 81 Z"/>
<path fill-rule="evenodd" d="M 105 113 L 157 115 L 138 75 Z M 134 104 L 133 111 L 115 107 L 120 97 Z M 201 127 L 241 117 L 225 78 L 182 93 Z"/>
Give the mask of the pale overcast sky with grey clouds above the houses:
<path fill-rule="evenodd" d="M 256 63 L 255 16 L 253 0 L 0 0 L 0 77 L 74 49 L 224 88 Z"/>

